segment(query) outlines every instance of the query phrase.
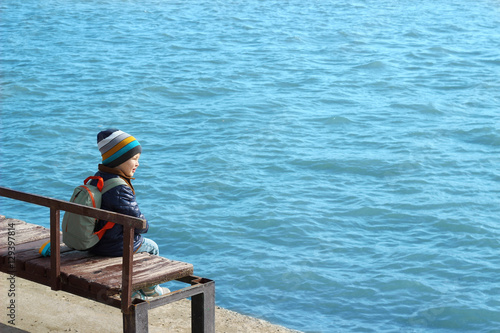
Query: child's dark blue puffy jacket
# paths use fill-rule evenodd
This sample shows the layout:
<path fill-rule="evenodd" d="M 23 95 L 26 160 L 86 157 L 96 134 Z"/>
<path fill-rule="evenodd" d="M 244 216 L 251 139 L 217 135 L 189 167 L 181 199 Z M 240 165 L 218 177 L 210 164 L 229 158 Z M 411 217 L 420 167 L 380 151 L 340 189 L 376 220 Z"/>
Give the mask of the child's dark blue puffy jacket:
<path fill-rule="evenodd" d="M 95 176 L 102 177 L 104 181 L 110 178 L 119 177 L 117 174 L 98 171 Z M 123 177 L 122 177 L 123 178 Z M 130 183 L 130 180 L 128 181 Z M 92 180 L 91 185 L 96 185 L 97 181 Z M 132 185 L 129 187 L 127 185 L 118 185 L 110 189 L 102 195 L 101 209 L 113 211 L 116 213 L 121 213 L 125 215 L 130 215 L 134 217 L 139 217 L 145 219 L 139 210 L 137 201 L 135 200 L 135 193 Z M 96 223 L 95 231 L 99 231 L 106 224 L 107 221 L 99 220 Z M 134 230 L 134 252 L 139 249 L 142 245 L 143 237 L 141 234 L 148 232 L 149 223 L 146 221 L 145 229 L 135 229 Z M 120 257 L 123 255 L 123 226 L 120 224 L 115 224 L 113 228 L 107 230 L 101 240 L 94 245 L 90 252 L 111 257 Z"/>

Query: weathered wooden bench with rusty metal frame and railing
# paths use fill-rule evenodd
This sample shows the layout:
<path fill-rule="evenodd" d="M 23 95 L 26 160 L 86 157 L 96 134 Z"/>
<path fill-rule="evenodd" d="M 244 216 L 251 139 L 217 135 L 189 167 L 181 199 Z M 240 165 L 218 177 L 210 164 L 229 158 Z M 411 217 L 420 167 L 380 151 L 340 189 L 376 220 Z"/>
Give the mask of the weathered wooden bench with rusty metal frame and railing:
<path fill-rule="evenodd" d="M 193 275 L 193 265 L 149 253 L 133 254 L 133 229 L 145 221 L 102 209 L 15 191 L 0 186 L 0 196 L 50 208 L 50 229 L 0 215 L 0 271 L 120 308 L 123 332 L 148 332 L 148 310 L 191 297 L 192 332 L 215 332 L 215 283 Z M 123 257 L 101 257 L 61 242 L 60 211 L 123 225 Z M 38 253 L 50 240 L 51 256 Z M 149 300 L 134 291 L 177 280 L 189 286 Z"/>

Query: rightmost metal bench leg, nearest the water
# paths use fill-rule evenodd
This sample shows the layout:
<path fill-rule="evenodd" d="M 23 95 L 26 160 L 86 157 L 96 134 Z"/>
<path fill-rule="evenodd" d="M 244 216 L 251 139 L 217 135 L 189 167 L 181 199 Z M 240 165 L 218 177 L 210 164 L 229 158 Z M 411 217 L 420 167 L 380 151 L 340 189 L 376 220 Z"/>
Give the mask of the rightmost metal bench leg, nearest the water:
<path fill-rule="evenodd" d="M 215 282 L 207 282 L 203 293 L 191 297 L 191 331 L 215 333 Z"/>

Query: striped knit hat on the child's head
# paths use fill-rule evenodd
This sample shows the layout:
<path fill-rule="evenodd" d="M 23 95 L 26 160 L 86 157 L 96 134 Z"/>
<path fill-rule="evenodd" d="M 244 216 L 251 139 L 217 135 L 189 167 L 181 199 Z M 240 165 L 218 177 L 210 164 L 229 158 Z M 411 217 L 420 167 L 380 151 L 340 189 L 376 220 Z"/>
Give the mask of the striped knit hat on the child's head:
<path fill-rule="evenodd" d="M 102 164 L 115 168 L 142 152 L 141 144 L 132 135 L 110 128 L 97 134 Z"/>

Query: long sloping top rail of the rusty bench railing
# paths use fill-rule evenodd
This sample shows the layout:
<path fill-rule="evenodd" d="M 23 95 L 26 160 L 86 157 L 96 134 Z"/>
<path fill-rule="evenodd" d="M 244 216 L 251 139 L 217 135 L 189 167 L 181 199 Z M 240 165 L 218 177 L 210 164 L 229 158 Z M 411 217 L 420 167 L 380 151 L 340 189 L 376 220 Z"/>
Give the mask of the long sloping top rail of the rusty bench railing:
<path fill-rule="evenodd" d="M 100 208 L 79 205 L 69 201 L 16 191 L 3 186 L 0 186 L 0 196 L 32 203 L 39 206 L 50 207 L 55 210 L 63 210 L 78 215 L 90 216 L 105 221 L 111 221 L 132 228 L 144 229 L 146 227 L 146 221 L 137 217 L 110 212 Z"/>

